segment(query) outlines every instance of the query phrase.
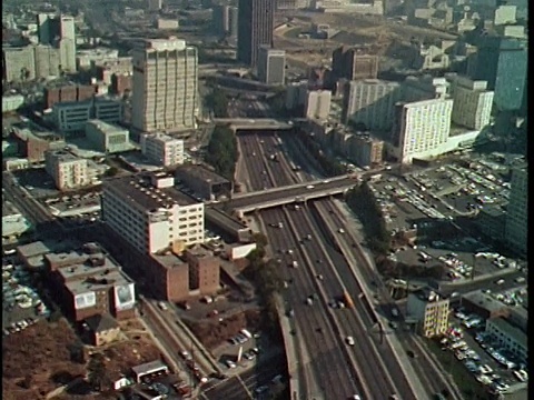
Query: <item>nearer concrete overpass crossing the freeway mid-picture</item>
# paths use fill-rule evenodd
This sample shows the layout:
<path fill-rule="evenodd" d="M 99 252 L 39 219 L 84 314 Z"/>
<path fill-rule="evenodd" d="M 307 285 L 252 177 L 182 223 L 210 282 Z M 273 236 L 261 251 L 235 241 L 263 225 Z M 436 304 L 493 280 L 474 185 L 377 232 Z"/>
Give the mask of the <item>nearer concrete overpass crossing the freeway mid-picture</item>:
<path fill-rule="evenodd" d="M 224 208 L 234 210 L 240 217 L 266 208 L 342 194 L 358 182 L 359 179 L 356 176 L 339 176 L 320 181 L 234 194 L 231 200 L 225 202 Z"/>

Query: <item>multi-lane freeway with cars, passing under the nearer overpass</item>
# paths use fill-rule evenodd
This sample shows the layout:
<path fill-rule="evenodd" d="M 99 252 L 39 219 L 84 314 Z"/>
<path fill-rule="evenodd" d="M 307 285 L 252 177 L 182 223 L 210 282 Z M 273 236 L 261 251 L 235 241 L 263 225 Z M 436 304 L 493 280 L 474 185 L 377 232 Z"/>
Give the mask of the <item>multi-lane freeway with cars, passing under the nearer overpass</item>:
<path fill-rule="evenodd" d="M 303 178 L 309 179 L 309 176 L 296 174 L 286 158 L 285 143 L 276 134 L 241 134 L 238 140 L 248 171 L 248 190 L 270 189 L 301 182 Z M 330 226 L 347 227 L 347 221 L 342 219 L 330 199 L 259 213 L 274 257 L 280 264 L 280 273 L 288 282 L 284 294 L 288 311 L 295 316 L 295 334 L 301 337 L 305 347 L 299 354 L 300 392 L 306 393 L 304 398 L 317 399 L 347 398 L 354 393 L 373 399 L 387 399 L 393 393 L 403 399 L 431 398 L 447 387 L 447 382 L 439 373 L 433 373 L 435 366 L 422 357 L 412 362 L 413 370 L 419 376 L 419 390 L 414 390 L 388 341 L 383 341 L 377 334 L 378 320 L 373 310 L 373 299 L 366 298 L 368 294 L 353 271 L 355 266 L 349 267 L 346 257 L 329 240 L 335 234 L 345 241 L 350 240 L 349 237 L 327 229 L 324 217 L 315 211 L 316 203 L 326 208 Z M 352 248 L 354 243 L 347 246 Z M 355 253 L 358 253 L 356 250 L 360 251 L 355 249 Z M 294 261 L 298 268 L 291 267 Z M 364 270 L 366 280 L 380 281 L 362 256 L 356 258 L 356 263 L 358 269 Z M 337 303 L 344 292 L 352 296 L 354 308 L 330 307 L 329 303 Z M 382 291 L 378 292 L 382 296 Z M 313 304 L 308 303 L 308 297 L 313 299 Z M 418 348 L 408 333 L 403 334 L 404 347 Z M 354 347 L 347 346 L 348 336 L 355 338 Z M 327 370 L 324 368 L 325 360 L 328 360 Z"/>

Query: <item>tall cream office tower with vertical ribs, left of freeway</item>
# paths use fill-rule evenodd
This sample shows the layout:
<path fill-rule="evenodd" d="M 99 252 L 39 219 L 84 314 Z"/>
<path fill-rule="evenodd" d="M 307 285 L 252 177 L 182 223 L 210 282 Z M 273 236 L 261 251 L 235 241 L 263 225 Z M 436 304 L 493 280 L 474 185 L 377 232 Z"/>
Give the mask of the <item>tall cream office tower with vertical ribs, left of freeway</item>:
<path fill-rule="evenodd" d="M 131 126 L 141 132 L 196 128 L 198 54 L 176 38 L 152 39 L 134 51 Z"/>

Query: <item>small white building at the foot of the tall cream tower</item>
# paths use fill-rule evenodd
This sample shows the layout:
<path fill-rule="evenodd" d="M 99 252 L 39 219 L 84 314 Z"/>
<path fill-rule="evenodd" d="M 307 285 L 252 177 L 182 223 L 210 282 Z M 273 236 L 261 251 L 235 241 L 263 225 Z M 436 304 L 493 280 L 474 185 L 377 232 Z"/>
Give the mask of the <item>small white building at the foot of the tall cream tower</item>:
<path fill-rule="evenodd" d="M 184 140 L 165 133 L 145 133 L 140 137 L 141 151 L 151 162 L 169 167 L 184 163 Z"/>

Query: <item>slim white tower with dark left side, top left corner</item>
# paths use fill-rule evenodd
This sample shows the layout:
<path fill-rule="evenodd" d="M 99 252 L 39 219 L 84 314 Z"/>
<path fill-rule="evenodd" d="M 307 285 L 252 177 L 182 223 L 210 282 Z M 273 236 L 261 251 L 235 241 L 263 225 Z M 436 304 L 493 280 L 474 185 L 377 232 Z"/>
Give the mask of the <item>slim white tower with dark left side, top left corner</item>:
<path fill-rule="evenodd" d="M 40 13 L 37 16 L 39 43 L 59 49 L 61 70 L 76 72 L 75 19 L 68 16 Z"/>

